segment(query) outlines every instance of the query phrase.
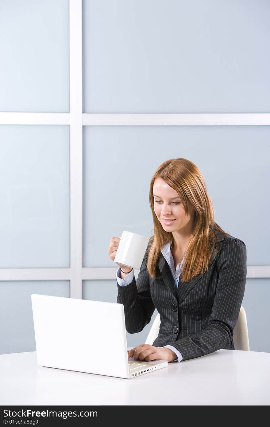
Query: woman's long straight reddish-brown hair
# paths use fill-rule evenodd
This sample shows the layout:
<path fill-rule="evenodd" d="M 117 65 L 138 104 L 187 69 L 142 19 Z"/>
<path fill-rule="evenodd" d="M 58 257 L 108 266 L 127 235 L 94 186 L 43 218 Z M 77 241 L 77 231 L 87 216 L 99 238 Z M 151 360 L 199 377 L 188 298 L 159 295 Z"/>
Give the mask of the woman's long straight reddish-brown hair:
<path fill-rule="evenodd" d="M 216 249 L 216 232 L 226 236 L 228 233 L 215 222 L 212 201 L 198 167 L 184 158 L 166 160 L 157 168 L 150 184 L 149 201 L 153 215 L 154 235 L 149 240 L 147 270 L 151 277 L 157 274 L 158 258 L 163 245 L 173 240 L 172 233 L 163 229 L 154 212 L 153 186 L 157 178 L 162 178 L 177 191 L 186 213 L 188 213 L 188 202 L 195 209 L 194 227 L 186 248 L 181 273 L 181 281 L 187 282 L 207 271 L 209 260 Z"/>

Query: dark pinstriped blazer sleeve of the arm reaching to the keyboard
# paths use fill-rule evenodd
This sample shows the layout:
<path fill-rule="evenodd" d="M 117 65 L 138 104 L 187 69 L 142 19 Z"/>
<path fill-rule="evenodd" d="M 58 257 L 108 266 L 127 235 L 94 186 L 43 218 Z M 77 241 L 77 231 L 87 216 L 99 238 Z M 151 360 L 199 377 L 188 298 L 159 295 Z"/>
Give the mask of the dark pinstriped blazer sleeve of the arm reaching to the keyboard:
<path fill-rule="evenodd" d="M 229 239 L 218 258 L 218 283 L 208 324 L 199 333 L 168 342 L 193 359 L 229 347 L 238 320 L 247 278 L 247 248 L 239 239 Z"/>

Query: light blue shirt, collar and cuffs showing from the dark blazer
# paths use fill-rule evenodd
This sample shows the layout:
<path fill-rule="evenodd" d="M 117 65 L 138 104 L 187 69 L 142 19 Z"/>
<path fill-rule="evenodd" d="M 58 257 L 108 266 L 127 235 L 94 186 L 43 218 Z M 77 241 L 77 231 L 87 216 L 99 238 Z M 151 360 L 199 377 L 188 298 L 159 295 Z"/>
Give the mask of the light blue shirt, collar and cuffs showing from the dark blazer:
<path fill-rule="evenodd" d="M 175 269 L 174 268 L 174 258 L 173 258 L 172 254 L 171 254 L 171 248 L 170 248 L 171 242 L 166 243 L 162 247 L 161 253 L 163 254 L 163 257 L 165 258 L 165 260 L 167 261 L 167 263 L 168 263 L 168 265 L 169 265 L 169 267 L 171 269 L 172 275 L 174 277 L 174 287 L 175 287 L 175 289 L 177 289 L 178 283 L 179 283 L 179 277 L 180 277 L 180 274 L 182 272 L 183 260 L 184 260 L 184 257 L 186 255 L 186 253 L 185 252 L 183 253 L 183 260 L 181 261 L 181 263 L 177 264 L 176 269 Z M 125 276 L 125 279 L 121 278 L 120 267 L 117 270 L 116 280 L 117 280 L 117 283 L 119 284 L 119 286 L 128 286 L 133 281 L 133 278 L 134 278 L 134 270 L 133 269 L 131 270 L 130 273 L 128 273 Z M 163 348 L 169 348 L 170 350 L 174 351 L 174 353 L 178 357 L 178 360 L 176 359 L 176 360 L 174 360 L 174 362 L 181 362 L 181 360 L 183 360 L 182 354 L 173 345 L 164 345 Z"/>

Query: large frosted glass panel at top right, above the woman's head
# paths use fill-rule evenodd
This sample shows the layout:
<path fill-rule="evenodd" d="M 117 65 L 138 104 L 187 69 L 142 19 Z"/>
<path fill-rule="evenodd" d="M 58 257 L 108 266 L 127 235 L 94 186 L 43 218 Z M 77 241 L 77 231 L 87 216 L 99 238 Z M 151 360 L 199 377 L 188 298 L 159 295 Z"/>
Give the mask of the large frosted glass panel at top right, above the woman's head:
<path fill-rule="evenodd" d="M 83 0 L 83 111 L 270 111 L 270 2 Z"/>

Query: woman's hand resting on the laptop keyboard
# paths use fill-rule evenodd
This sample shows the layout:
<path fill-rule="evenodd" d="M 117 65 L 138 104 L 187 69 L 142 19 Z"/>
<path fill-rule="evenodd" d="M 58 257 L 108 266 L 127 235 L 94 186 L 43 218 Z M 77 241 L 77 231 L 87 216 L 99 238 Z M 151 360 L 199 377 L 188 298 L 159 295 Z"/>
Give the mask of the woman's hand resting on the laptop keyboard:
<path fill-rule="evenodd" d="M 137 347 L 128 350 L 128 357 L 132 356 L 134 360 L 145 360 L 146 362 L 151 360 L 168 360 L 168 362 L 172 362 L 177 359 L 177 355 L 169 348 L 154 347 L 154 345 L 150 344 L 137 345 Z"/>

